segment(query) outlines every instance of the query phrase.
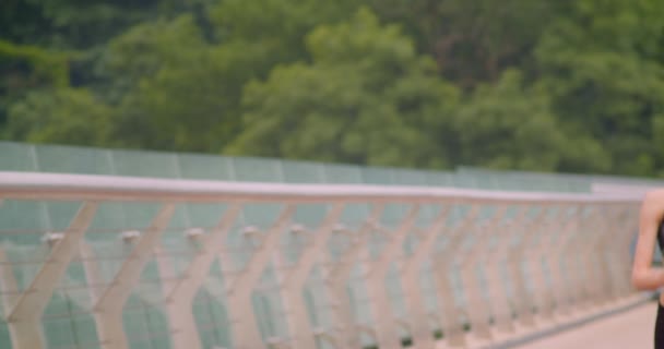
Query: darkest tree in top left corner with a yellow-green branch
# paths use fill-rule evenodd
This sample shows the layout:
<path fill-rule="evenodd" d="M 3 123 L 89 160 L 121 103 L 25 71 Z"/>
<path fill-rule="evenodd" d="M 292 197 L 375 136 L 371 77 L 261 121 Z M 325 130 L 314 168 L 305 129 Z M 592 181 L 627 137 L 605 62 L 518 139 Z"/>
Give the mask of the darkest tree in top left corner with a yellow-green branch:
<path fill-rule="evenodd" d="M 201 1 L 208 0 L 195 2 Z M 48 91 L 67 86 L 93 87 L 105 95 L 107 86 L 99 75 L 98 60 L 107 40 L 134 23 L 187 8 L 178 2 L 0 2 L 0 134 L 3 137 L 15 134 L 2 131 L 15 129 L 7 125 L 8 109 L 13 103 L 25 104 L 22 99 L 28 92 L 39 91 L 29 97 L 33 101 L 37 95 L 50 98 Z"/>

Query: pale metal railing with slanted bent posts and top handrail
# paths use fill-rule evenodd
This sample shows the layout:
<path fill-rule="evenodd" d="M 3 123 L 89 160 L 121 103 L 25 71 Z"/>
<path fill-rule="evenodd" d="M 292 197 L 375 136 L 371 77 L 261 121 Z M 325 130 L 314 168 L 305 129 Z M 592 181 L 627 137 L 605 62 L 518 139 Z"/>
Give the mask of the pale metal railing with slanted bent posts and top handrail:
<path fill-rule="evenodd" d="M 0 200 L 5 204 L 80 204 L 64 231 L 37 231 L 50 233 L 50 243 L 28 286 L 19 287 L 12 274 L 21 262 L 5 256 L 11 251 L 4 250 L 20 246 L 2 246 L 3 316 L 14 349 L 48 347 L 45 309 L 62 288 L 72 261 L 80 261 L 91 299 L 82 309 L 94 317 L 96 339 L 79 347 L 129 348 L 134 337 L 128 335 L 123 314 L 130 311 L 130 298 L 141 297 L 143 269 L 156 261 L 163 297 L 149 303 L 166 317 L 167 333 L 161 336 L 176 349 L 203 348 L 193 310 L 203 288 L 215 293 L 228 313 L 227 342 L 216 346 L 351 349 L 372 341 L 389 349 L 401 348 L 400 334 L 407 333 L 417 348 L 428 349 L 435 348 L 435 332 L 452 347 L 498 344 L 631 300 L 629 243 L 640 198 L 627 192 L 556 194 L 0 172 Z M 86 233 L 96 229 L 91 226 L 104 205 L 137 202 L 157 204 L 158 209 L 143 229 L 122 227 L 118 232 L 124 231 L 124 239 L 107 243 L 131 249 L 116 257 L 117 267 L 105 279 L 99 272 L 104 258 L 95 255 L 95 242 L 87 241 Z M 257 215 L 249 210 L 265 204 L 275 205 L 277 214 L 263 215 L 268 222 L 252 221 Z M 216 225 L 201 228 L 193 221 L 192 205 L 216 205 Z M 186 226 L 173 227 L 182 208 Z M 317 216 L 313 222 L 298 221 L 303 209 L 316 210 L 309 215 Z M 180 242 L 171 241 L 188 251 L 185 262 L 164 245 L 169 229 L 186 232 Z M 11 229 L 0 222 L 0 233 L 3 230 Z M 247 239 L 246 249 L 229 248 L 232 236 Z M 99 245 L 97 251 L 106 249 Z M 216 281 L 208 285 L 217 261 L 221 288 Z M 264 286 L 270 284 L 266 275 L 274 279 L 271 287 Z M 305 291 L 313 300 L 307 301 Z M 280 304 L 281 311 L 257 311 L 257 294 Z M 273 317 L 275 328 L 261 325 L 265 316 Z"/>

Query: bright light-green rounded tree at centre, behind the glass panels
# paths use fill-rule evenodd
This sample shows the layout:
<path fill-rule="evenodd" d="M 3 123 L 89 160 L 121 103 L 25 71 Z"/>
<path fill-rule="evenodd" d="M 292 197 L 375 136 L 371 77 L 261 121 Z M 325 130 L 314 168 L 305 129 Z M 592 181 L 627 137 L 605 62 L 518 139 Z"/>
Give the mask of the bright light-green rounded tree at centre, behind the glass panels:
<path fill-rule="evenodd" d="M 370 165 L 448 165 L 436 137 L 458 103 L 435 63 L 367 9 L 307 37 L 311 63 L 277 67 L 246 89 L 234 154 Z"/>

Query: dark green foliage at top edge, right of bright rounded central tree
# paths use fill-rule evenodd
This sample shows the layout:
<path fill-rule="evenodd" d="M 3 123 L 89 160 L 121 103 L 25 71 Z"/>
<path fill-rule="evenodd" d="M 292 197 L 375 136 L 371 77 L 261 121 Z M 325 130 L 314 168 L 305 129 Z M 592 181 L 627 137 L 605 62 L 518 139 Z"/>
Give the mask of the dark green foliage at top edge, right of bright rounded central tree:
<path fill-rule="evenodd" d="M 387 21 L 403 24 L 419 51 L 464 89 L 497 81 L 508 68 L 531 69 L 532 48 L 570 1 L 369 0 Z"/>

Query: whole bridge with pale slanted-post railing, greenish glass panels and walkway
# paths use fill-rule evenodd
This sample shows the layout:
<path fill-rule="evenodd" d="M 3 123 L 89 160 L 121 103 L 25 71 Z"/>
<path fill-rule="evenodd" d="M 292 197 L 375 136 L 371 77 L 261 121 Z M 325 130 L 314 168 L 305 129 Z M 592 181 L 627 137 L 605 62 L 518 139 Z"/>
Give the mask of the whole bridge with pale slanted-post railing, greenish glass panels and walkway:
<path fill-rule="evenodd" d="M 0 154 L 0 348 L 651 342 L 629 274 L 655 181 Z"/>

